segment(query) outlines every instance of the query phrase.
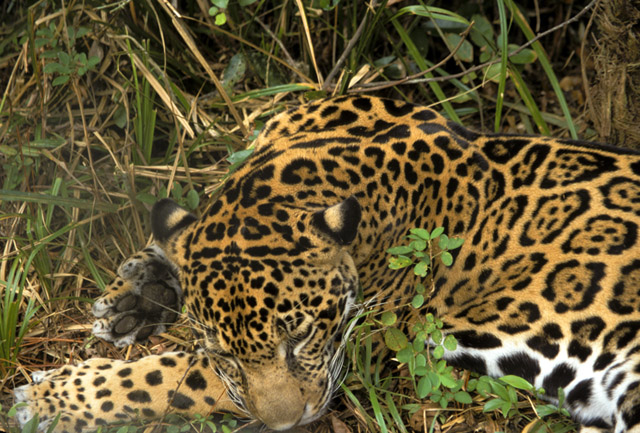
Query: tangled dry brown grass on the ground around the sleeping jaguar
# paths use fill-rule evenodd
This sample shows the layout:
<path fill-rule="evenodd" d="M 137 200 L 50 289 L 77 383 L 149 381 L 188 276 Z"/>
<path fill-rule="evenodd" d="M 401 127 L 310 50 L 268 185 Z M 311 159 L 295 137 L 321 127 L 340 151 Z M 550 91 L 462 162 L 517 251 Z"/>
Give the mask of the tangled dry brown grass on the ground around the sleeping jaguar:
<path fill-rule="evenodd" d="M 467 124 L 492 129 L 498 84 L 485 81 L 480 68 L 469 80 L 447 77 L 468 71 L 470 64 L 447 56 L 456 47 L 443 42 L 441 30 L 420 30 L 429 18 L 407 14 L 394 20 L 399 26 L 394 29 L 391 18 L 408 3 L 380 7 L 343 0 L 323 11 L 305 7 L 306 0 L 257 2 L 227 11 L 224 26 L 208 15 L 211 5 L 205 0 L 180 13 L 166 0 L 11 3 L 13 9 L 5 9 L 9 19 L 0 27 L 0 302 L 15 267 L 24 273 L 22 297 L 14 302 L 15 325 L 23 323 L 29 300 L 37 311 L 17 357 L 0 359 L 3 407 L 10 406 L 9 390 L 27 382 L 34 370 L 94 356 L 132 359 L 191 349 L 189 331 L 180 324 L 149 344 L 122 350 L 96 340 L 88 300 L 124 258 L 149 242 L 149 197 L 172 195 L 177 183 L 182 190 L 177 198 L 186 201 L 193 190 L 206 201 L 226 173 L 227 156 L 245 148 L 254 129 L 275 112 L 305 96 L 371 91 L 433 104 Z M 497 26 L 490 4 L 478 12 Z M 528 18 L 544 29 L 568 15 L 558 5 Z M 68 30 L 81 28 L 87 31 L 79 37 Z M 565 68 L 563 76 L 580 76 L 579 59 L 558 62 L 572 57 L 578 28 L 563 29 L 565 38 L 554 46 L 551 61 Z M 430 44 L 425 59 L 444 68 L 433 69 L 437 81 L 412 75 L 417 66 L 401 29 Z M 526 42 L 517 34 L 513 41 Z M 65 73 L 50 65 L 82 53 L 99 59 L 95 67 L 80 75 L 86 63 L 80 59 L 69 67 L 68 81 L 54 85 Z M 239 54 L 246 72 L 234 75 L 229 65 Z M 478 57 L 479 50 L 475 64 Z M 379 66 L 385 59 L 389 64 Z M 527 65 L 522 73 L 553 132 L 566 135 L 557 95 L 540 80 L 539 65 Z M 390 80 L 401 83 L 385 84 Z M 570 87 L 578 92 L 570 96 L 571 105 L 580 87 Z M 446 101 L 459 94 L 473 97 L 453 105 Z M 501 129 L 535 132 L 535 120 L 511 81 L 504 95 Z M 6 301 L 0 306 L 8 311 Z M 336 407 L 314 428 L 368 428 L 361 409 L 348 399 Z M 416 430 L 429 425 L 432 407 L 424 407 L 409 421 Z M 483 414 L 476 404 L 449 412 L 436 431 L 514 431 L 523 422 Z"/>

